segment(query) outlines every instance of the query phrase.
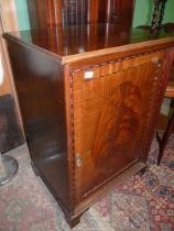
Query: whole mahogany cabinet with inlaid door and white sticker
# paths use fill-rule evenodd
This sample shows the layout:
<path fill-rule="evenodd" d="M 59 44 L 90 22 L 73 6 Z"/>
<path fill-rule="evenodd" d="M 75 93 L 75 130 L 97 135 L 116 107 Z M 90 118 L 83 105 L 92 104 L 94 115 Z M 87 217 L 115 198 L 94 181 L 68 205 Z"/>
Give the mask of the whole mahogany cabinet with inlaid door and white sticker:
<path fill-rule="evenodd" d="M 116 25 L 4 34 L 32 165 L 70 226 L 145 167 L 174 37 Z"/>

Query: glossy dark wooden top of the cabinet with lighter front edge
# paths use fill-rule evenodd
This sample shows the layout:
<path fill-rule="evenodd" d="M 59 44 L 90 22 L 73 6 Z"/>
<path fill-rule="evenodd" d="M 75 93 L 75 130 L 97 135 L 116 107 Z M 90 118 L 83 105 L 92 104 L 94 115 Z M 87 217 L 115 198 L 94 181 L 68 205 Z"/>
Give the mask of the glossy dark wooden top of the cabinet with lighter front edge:
<path fill-rule="evenodd" d="M 83 56 L 94 57 L 101 53 L 105 55 L 128 48 L 141 50 L 144 46 L 174 43 L 174 32 L 150 36 L 149 30 L 123 30 L 113 24 L 20 31 L 8 33 L 4 37 L 51 52 L 64 63 Z"/>

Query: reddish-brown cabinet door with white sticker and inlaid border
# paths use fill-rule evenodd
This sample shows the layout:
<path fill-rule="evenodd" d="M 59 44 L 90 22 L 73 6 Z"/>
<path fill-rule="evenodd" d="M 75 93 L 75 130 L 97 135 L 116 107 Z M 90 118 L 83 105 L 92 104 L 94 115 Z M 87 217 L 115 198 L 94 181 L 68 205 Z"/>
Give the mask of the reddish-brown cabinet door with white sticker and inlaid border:
<path fill-rule="evenodd" d="M 143 158 L 165 52 L 73 72 L 76 202 Z"/>

